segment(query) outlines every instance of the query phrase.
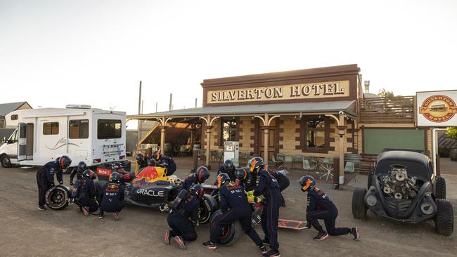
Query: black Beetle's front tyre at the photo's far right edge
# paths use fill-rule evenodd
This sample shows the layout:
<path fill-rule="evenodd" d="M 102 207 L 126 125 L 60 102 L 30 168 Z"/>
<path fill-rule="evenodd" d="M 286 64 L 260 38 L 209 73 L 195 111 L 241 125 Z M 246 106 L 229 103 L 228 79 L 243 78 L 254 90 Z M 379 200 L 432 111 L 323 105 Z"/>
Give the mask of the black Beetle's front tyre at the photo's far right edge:
<path fill-rule="evenodd" d="M 453 232 L 453 207 L 445 199 L 437 199 L 438 212 L 435 216 L 435 231 L 439 235 L 450 236 Z"/>

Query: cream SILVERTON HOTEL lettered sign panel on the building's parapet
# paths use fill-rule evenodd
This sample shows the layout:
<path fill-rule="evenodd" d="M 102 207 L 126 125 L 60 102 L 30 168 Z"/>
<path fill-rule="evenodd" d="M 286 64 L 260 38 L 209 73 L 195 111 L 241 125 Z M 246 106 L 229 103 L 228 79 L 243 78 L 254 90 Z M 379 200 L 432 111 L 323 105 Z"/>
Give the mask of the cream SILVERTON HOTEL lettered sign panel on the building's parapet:
<path fill-rule="evenodd" d="M 207 103 L 252 102 L 349 96 L 349 80 L 207 91 Z"/>

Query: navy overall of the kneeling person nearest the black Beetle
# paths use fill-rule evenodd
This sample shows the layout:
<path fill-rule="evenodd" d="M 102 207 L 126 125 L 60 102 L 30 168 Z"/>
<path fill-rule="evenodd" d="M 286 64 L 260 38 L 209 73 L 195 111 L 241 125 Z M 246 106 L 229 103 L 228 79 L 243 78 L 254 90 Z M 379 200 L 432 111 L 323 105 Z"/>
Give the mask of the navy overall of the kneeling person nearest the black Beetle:
<path fill-rule="evenodd" d="M 338 210 L 326 193 L 318 187 L 313 187 L 308 191 L 307 221 L 319 232 L 323 232 L 318 220 L 323 220 L 326 224 L 328 235 L 347 235 L 351 232 L 350 228 L 335 228 L 335 220 Z"/>

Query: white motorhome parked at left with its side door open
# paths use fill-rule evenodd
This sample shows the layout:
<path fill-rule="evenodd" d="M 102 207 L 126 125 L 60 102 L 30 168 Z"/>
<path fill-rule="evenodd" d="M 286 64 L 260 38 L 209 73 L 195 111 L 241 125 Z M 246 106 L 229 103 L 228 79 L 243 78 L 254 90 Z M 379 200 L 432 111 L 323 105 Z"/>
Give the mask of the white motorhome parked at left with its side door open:
<path fill-rule="evenodd" d="M 89 105 L 16 110 L 6 115 L 6 125 L 18 129 L 0 146 L 1 166 L 42 166 L 62 155 L 72 159 L 72 167 L 123 161 L 125 122 L 125 112 Z"/>

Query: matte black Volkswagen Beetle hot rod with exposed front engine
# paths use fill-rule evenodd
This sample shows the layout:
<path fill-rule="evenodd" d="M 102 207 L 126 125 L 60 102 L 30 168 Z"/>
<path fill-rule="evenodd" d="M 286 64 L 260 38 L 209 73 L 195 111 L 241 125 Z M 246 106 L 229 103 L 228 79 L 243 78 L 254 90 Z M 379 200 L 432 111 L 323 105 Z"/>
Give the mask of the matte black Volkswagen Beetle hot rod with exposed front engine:
<path fill-rule="evenodd" d="M 440 235 L 452 235 L 453 206 L 446 198 L 444 178 L 435 176 L 430 159 L 418 152 L 388 151 L 378 155 L 368 173 L 368 190 L 352 195 L 354 218 L 366 218 L 370 209 L 381 218 L 401 223 L 435 221 Z"/>

